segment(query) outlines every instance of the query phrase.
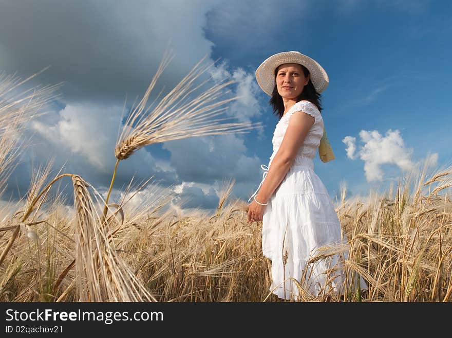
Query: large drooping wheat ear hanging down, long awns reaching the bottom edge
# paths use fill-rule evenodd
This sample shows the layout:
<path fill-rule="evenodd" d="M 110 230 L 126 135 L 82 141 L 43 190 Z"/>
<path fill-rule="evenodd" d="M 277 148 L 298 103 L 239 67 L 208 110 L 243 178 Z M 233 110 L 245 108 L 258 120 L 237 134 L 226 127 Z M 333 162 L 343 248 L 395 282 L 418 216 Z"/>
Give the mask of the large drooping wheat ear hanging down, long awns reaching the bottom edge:
<path fill-rule="evenodd" d="M 77 212 L 76 269 L 81 301 L 156 301 L 109 243 L 107 229 L 99 223 L 89 186 L 72 175 Z M 96 191 L 95 191 L 96 192 Z M 97 192 L 96 192 L 97 193 Z M 99 195 L 100 198 L 100 195 Z"/>

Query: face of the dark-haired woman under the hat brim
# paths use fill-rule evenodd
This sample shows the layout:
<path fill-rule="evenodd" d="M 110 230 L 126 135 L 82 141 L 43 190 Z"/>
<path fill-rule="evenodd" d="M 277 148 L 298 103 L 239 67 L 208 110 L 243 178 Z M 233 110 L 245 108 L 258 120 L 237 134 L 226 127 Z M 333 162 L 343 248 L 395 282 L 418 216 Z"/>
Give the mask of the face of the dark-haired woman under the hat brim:
<path fill-rule="evenodd" d="M 302 66 L 297 63 L 285 63 L 278 67 L 276 73 L 276 87 L 278 93 L 286 99 L 296 99 L 303 92 L 309 82 L 309 75 L 305 77 Z"/>

